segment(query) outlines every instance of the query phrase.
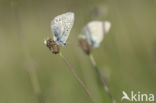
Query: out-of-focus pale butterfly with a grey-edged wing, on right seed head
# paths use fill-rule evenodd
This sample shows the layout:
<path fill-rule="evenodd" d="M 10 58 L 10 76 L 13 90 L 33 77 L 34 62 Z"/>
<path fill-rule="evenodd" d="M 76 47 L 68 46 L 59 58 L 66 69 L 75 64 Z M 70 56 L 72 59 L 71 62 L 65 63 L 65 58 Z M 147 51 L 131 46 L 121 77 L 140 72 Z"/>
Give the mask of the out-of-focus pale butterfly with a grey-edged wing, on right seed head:
<path fill-rule="evenodd" d="M 83 34 L 89 45 L 99 47 L 110 27 L 111 23 L 109 21 L 91 21 L 83 28 Z"/>

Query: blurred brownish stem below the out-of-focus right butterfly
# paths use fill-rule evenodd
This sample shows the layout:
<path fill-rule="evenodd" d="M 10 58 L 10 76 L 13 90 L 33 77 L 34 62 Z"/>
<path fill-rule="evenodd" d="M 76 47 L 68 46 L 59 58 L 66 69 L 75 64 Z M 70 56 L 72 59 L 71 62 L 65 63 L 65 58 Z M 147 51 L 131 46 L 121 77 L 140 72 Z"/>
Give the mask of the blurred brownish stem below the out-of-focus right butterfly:
<path fill-rule="evenodd" d="M 103 85 L 104 90 L 105 90 L 106 93 L 109 95 L 109 97 L 110 97 L 112 103 L 116 103 L 115 99 L 113 98 L 111 92 L 110 92 L 109 89 L 108 89 L 108 86 L 107 86 L 107 84 L 106 84 L 106 82 L 105 82 L 105 78 L 104 78 L 104 77 L 102 76 L 102 74 L 100 73 L 100 71 L 99 71 L 99 69 L 98 69 L 98 67 L 97 67 L 97 65 L 96 65 L 96 61 L 95 61 L 95 59 L 94 59 L 94 57 L 93 57 L 93 55 L 92 55 L 91 53 L 89 54 L 89 58 L 90 58 L 90 60 L 91 60 L 91 63 L 92 63 L 92 65 L 93 65 L 93 67 L 94 67 L 95 70 L 96 70 L 97 76 L 98 76 L 98 78 L 99 78 L 101 84 Z"/>

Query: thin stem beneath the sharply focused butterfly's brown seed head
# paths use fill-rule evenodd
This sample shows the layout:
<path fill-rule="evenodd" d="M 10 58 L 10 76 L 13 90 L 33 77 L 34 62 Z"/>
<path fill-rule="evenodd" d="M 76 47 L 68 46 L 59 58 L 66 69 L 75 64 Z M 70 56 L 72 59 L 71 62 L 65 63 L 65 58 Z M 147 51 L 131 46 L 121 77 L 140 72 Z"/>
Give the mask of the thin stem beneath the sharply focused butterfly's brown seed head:
<path fill-rule="evenodd" d="M 62 55 L 62 53 L 60 53 L 60 56 L 62 57 L 62 59 L 64 60 L 64 62 L 66 63 L 66 65 L 68 66 L 68 68 L 71 70 L 71 72 L 73 73 L 74 77 L 77 79 L 77 81 L 80 83 L 80 85 L 83 87 L 83 89 L 86 91 L 86 93 L 88 94 L 88 96 L 91 98 L 93 103 L 96 103 L 95 99 L 93 98 L 93 96 L 91 95 L 90 91 L 88 90 L 87 86 L 84 84 L 84 82 L 79 78 L 79 76 L 77 75 L 77 73 L 75 72 L 74 68 L 71 66 L 71 64 L 68 62 L 68 60 Z"/>

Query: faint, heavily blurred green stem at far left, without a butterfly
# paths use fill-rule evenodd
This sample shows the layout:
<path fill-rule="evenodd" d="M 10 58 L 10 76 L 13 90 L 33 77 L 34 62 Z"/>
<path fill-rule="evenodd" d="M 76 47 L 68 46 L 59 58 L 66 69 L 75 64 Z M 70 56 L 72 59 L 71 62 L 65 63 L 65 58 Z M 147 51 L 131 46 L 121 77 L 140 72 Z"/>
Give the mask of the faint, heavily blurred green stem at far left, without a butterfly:
<path fill-rule="evenodd" d="M 16 26 L 17 26 L 17 34 L 19 37 L 19 41 L 20 41 L 20 46 L 24 55 L 24 60 L 26 62 L 26 70 L 29 74 L 29 78 L 31 80 L 31 84 L 34 90 L 34 93 L 36 95 L 37 98 L 37 102 L 38 103 L 43 103 L 43 97 L 42 97 L 42 93 L 41 93 L 41 89 L 40 89 L 40 85 L 39 85 L 39 80 L 36 74 L 36 67 L 34 62 L 31 59 L 29 50 L 27 48 L 27 44 L 24 40 L 24 35 L 22 32 L 22 28 L 21 28 L 21 22 L 20 22 L 20 18 L 19 18 L 19 7 L 18 7 L 18 2 L 15 0 L 11 1 L 11 7 L 12 7 L 12 12 L 14 15 L 14 19 L 16 22 Z"/>

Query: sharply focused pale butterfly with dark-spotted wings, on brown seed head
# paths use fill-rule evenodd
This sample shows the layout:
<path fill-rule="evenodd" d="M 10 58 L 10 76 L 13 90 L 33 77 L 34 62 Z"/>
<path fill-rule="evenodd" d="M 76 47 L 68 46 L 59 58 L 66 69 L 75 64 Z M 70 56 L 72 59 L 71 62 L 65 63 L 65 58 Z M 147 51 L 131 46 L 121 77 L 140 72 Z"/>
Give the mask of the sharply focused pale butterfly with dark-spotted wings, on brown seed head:
<path fill-rule="evenodd" d="M 53 38 L 58 45 L 66 45 L 66 41 L 68 39 L 73 24 L 73 12 L 67 12 L 62 15 L 58 15 L 51 21 L 51 30 L 53 33 Z"/>

